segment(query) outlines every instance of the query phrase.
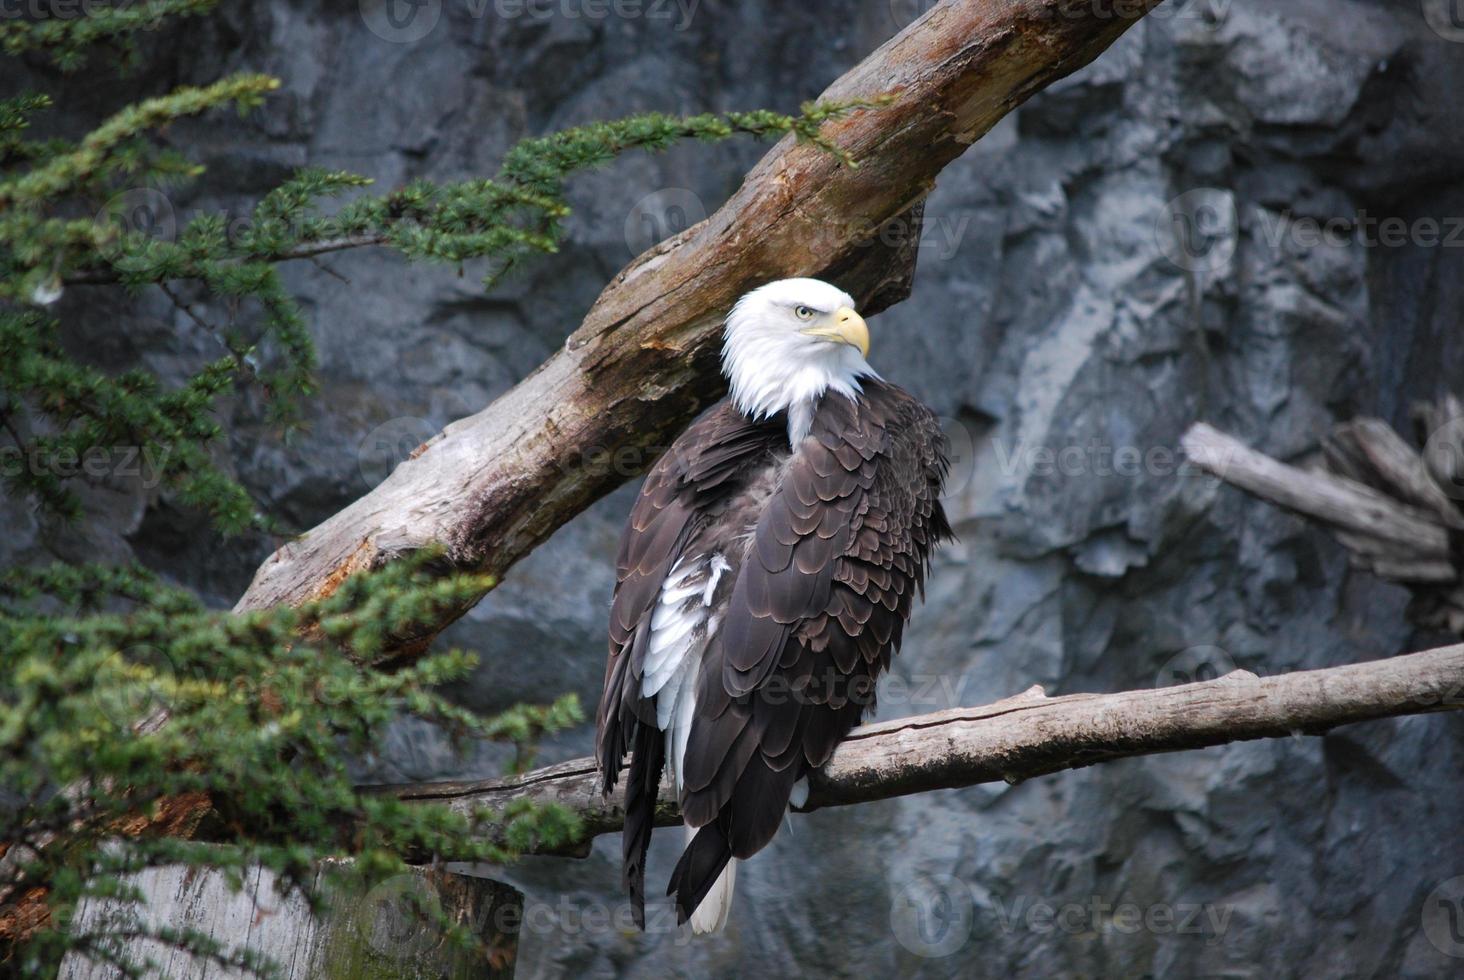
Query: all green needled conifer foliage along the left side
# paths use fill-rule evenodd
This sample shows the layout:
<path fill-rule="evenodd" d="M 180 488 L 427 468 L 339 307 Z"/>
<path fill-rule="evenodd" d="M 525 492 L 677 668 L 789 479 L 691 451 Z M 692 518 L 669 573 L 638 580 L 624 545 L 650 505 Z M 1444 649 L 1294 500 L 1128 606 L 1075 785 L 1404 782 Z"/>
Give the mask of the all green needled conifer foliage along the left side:
<path fill-rule="evenodd" d="M 110 50 L 136 63 L 139 31 L 199 16 L 214 0 L 86 4 L 83 16 L 0 21 L 7 56 L 60 69 Z M 526 139 L 492 177 L 378 190 L 343 171 L 307 168 L 268 192 L 246 221 L 179 221 L 167 193 L 201 167 L 160 139 L 170 123 L 247 113 L 278 86 L 233 75 L 119 108 L 78 141 L 34 139 L 54 111 L 41 94 L 0 100 L 0 482 L 7 495 L 66 521 L 85 520 L 78 489 L 105 483 L 127 457 L 174 504 L 224 533 L 274 529 L 215 463 L 218 400 L 253 390 L 281 434 L 313 390 L 315 346 L 283 262 L 353 248 L 410 261 L 476 262 L 486 287 L 552 255 L 569 215 L 565 182 L 634 149 L 735 135 L 798 139 L 837 154 L 820 125 L 859 104 L 676 119 L 644 114 Z M 51 312 L 67 290 L 155 292 L 205 330 L 217 350 L 168 385 L 136 368 L 101 371 L 64 343 Z M 202 306 L 230 311 L 209 319 Z M 275 529 L 278 530 L 278 529 Z M 438 694 L 474 665 L 444 650 L 391 669 L 386 637 L 441 618 L 492 582 L 441 579 L 430 561 L 356 576 L 329 598 L 249 615 L 211 611 L 138 568 L 53 565 L 0 573 L 0 973 L 54 971 L 67 952 L 145 973 L 151 938 L 252 973 L 272 964 L 186 929 L 86 932 L 86 898 L 141 901 L 127 873 L 160 864 L 221 869 L 242 882 L 262 866 L 319 902 L 322 858 L 357 883 L 408 860 L 507 861 L 580 828 L 553 807 L 454 813 L 363 792 L 354 759 L 385 725 L 426 719 L 458 740 L 493 740 L 531 759 L 546 732 L 581 722 L 572 697 L 477 716 Z M 439 923 L 452 942 L 474 936 Z"/>

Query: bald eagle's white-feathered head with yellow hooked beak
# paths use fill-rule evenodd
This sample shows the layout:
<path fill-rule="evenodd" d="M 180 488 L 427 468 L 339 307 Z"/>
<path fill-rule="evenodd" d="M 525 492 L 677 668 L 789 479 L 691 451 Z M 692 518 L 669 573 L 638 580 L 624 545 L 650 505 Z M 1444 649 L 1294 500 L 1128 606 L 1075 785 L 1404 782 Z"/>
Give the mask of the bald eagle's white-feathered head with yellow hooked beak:
<path fill-rule="evenodd" d="M 859 378 L 874 375 L 868 353 L 870 328 L 848 293 L 815 278 L 783 278 L 747 293 L 728 313 L 722 372 L 742 415 L 788 412 L 796 445 L 826 391 L 859 394 Z"/>

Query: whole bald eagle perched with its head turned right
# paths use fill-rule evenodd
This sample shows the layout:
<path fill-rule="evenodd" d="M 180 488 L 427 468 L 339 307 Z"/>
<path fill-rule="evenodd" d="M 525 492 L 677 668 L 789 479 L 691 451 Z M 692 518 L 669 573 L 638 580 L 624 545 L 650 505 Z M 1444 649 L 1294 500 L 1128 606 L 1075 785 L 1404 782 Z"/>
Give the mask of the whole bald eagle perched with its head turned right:
<path fill-rule="evenodd" d="M 829 283 L 742 296 L 722 349 L 731 396 L 651 467 L 625 526 L 596 750 L 606 794 L 631 754 L 624 886 L 641 927 L 662 771 L 687 825 L 668 894 L 679 921 L 720 929 L 736 858 L 767 845 L 873 708 L 950 536 L 935 416 L 868 353 Z"/>

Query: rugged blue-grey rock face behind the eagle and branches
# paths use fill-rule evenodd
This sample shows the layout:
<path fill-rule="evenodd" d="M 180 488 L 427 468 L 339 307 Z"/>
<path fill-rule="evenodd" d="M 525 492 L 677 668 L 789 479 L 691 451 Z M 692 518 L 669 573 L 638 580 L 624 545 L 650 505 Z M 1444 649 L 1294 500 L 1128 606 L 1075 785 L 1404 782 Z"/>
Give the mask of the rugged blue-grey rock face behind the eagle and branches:
<path fill-rule="evenodd" d="M 149 75 L 105 104 L 67 82 L 63 127 L 130 86 L 281 76 L 258 117 L 174 133 L 209 164 L 171 195 L 182 220 L 237 211 L 306 163 L 389 186 L 483 174 L 517 136 L 591 119 L 792 108 L 930 6 L 385 1 L 230 7 L 158 38 Z M 1165 4 L 946 171 L 915 294 L 874 321 L 873 360 L 947 417 L 960 543 L 881 718 L 1439 640 L 1410 633 L 1407 596 L 1350 571 L 1325 535 L 1176 451 L 1205 419 L 1304 459 L 1334 420 L 1404 425 L 1414 397 L 1464 388 L 1464 18 L 1451 13 L 1445 0 Z M 312 428 L 283 445 L 242 398 L 230 466 L 285 521 L 316 523 L 533 369 L 624 262 L 713 209 L 761 151 L 679 148 L 577 180 L 564 252 L 492 296 L 471 270 L 385 253 L 291 267 L 322 357 Z M 105 363 L 176 372 L 212 353 L 170 306 L 104 306 L 117 302 L 63 300 Z M 569 688 L 593 705 L 632 492 L 562 529 L 454 627 L 485 661 L 467 703 Z M 12 555 L 135 554 L 221 605 L 268 551 L 220 546 L 141 494 L 107 502 L 85 543 L 9 507 Z M 666 907 L 647 935 L 628 929 L 616 841 L 495 873 L 529 895 L 520 976 L 1442 976 L 1464 967 L 1461 743 L 1464 716 L 1407 718 L 795 817 L 742 869 L 713 939 L 676 930 Z M 546 757 L 589 746 L 586 728 Z M 493 766 L 400 727 L 379 775 Z M 657 836 L 653 879 L 678 848 Z"/>

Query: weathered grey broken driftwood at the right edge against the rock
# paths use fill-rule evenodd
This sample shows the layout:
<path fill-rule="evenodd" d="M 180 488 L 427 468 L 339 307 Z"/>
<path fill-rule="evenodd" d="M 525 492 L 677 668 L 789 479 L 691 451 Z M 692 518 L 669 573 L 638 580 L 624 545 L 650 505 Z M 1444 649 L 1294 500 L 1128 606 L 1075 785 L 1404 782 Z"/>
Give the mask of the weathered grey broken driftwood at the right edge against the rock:
<path fill-rule="evenodd" d="M 1306 470 L 1198 423 L 1181 445 L 1198 467 L 1325 524 L 1353 564 L 1413 592 L 1408 618 L 1464 634 L 1464 404 L 1416 409 L 1414 450 L 1381 419 L 1338 425 L 1325 469 Z"/>

